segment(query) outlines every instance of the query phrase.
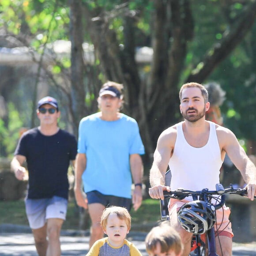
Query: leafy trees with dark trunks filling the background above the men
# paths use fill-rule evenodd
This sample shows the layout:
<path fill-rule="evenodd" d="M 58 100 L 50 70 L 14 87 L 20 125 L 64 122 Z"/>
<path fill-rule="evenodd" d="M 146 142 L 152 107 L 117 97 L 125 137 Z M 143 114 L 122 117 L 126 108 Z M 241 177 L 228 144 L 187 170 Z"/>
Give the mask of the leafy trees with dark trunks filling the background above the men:
<path fill-rule="evenodd" d="M 255 17 L 255 0 L 2 0 L 0 43 L 43 55 L 49 43 L 70 40 L 71 57 L 41 69 L 64 92 L 74 129 L 97 110 L 100 85 L 115 80 L 150 154 L 160 132 L 180 120 L 178 90 L 192 81 L 220 83 L 225 124 L 256 140 Z M 93 63 L 81 57 L 83 42 L 94 45 Z M 151 63 L 136 62 L 143 46 L 154 51 Z"/>

